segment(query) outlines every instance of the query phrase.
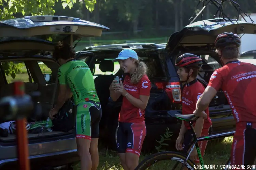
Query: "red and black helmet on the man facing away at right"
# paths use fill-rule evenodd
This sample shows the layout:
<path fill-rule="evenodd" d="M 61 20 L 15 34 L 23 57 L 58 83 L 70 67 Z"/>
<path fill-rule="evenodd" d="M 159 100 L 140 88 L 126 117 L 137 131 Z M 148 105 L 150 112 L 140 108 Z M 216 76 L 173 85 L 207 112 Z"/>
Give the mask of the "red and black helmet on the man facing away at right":
<path fill-rule="evenodd" d="M 236 47 L 240 47 L 240 37 L 237 34 L 233 34 L 232 32 L 224 32 L 219 34 L 215 40 L 215 47 L 221 48 L 227 45 L 236 45 Z"/>

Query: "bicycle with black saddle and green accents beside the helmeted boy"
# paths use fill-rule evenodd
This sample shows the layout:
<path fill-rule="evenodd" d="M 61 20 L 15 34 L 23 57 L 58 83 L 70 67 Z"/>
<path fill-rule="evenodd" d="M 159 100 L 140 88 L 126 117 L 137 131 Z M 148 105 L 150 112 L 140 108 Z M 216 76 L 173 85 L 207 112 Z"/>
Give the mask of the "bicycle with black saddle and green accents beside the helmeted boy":
<path fill-rule="evenodd" d="M 184 121 L 189 121 L 189 126 L 191 127 L 191 129 L 193 130 L 193 144 L 191 145 L 192 147 L 190 148 L 190 150 L 188 151 L 188 155 L 184 155 L 182 153 L 179 152 L 173 152 L 173 151 L 163 151 L 163 152 L 159 152 L 156 154 L 153 154 L 151 156 L 149 156 L 148 158 L 142 160 L 140 162 L 140 164 L 135 168 L 135 170 L 146 170 L 147 168 L 149 168 L 150 166 L 152 166 L 153 164 L 162 161 L 162 160 L 174 160 L 176 161 L 176 164 L 174 165 L 174 167 L 172 168 L 175 169 L 179 163 L 182 164 L 182 167 L 180 169 L 183 169 L 184 167 L 186 167 L 187 169 L 190 170 L 194 170 L 197 169 L 197 165 L 191 161 L 189 159 L 189 156 L 191 154 L 191 152 L 193 151 L 193 149 L 196 146 L 196 150 L 197 150 L 197 154 L 198 154 L 198 158 L 200 161 L 200 169 L 204 169 L 205 170 L 205 165 L 204 165 L 204 161 L 202 158 L 202 154 L 198 145 L 199 141 L 208 141 L 208 140 L 214 140 L 214 139 L 218 139 L 218 138 L 225 138 L 225 137 L 229 137 L 229 136 L 233 136 L 235 131 L 232 132 L 225 132 L 225 133 L 220 133 L 220 134 L 214 134 L 214 135 L 209 135 L 209 136 L 204 136 L 204 137 L 196 137 L 196 133 L 193 127 L 193 122 L 196 121 L 199 117 L 196 117 L 194 114 L 188 114 L 188 115 L 180 115 L 180 114 L 176 114 L 175 115 L 176 118 L 184 120 Z M 230 159 L 227 161 L 227 165 L 230 164 Z M 212 165 L 214 166 L 214 165 Z M 208 168 L 208 167 L 206 167 Z"/>

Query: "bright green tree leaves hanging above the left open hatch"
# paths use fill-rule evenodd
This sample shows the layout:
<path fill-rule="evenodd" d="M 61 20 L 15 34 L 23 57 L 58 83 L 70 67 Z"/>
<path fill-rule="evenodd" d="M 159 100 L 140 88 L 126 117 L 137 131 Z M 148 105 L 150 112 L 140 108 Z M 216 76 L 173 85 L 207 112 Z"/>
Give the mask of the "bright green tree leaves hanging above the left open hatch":
<path fill-rule="evenodd" d="M 57 2 L 60 0 L 56 0 Z M 2 0 L 0 1 L 0 20 L 15 18 L 15 16 L 25 15 L 53 15 L 55 0 Z M 81 0 L 78 0 L 80 2 Z M 94 10 L 96 0 L 84 0 L 86 8 L 91 12 Z M 65 9 L 73 7 L 77 0 L 61 0 Z"/>

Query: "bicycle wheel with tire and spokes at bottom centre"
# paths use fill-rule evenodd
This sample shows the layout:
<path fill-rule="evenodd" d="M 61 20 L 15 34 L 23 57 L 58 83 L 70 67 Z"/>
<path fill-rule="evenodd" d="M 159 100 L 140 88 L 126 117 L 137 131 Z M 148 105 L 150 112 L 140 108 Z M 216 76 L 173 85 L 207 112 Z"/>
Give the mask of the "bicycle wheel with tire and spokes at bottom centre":
<path fill-rule="evenodd" d="M 142 160 L 140 164 L 135 168 L 135 170 L 146 170 L 146 169 L 155 169 L 155 170 L 160 170 L 163 169 L 162 165 L 158 167 L 158 165 L 155 165 L 159 163 L 160 161 L 163 160 L 168 160 L 172 161 L 171 164 L 168 163 L 168 170 L 174 170 L 174 169 L 181 169 L 186 157 L 178 152 L 171 152 L 171 151 L 164 151 L 164 152 L 159 152 L 156 154 L 153 154 L 146 159 Z M 186 168 L 193 170 L 194 169 L 194 163 L 188 159 L 185 166 Z M 171 168 L 173 166 L 173 168 Z"/>

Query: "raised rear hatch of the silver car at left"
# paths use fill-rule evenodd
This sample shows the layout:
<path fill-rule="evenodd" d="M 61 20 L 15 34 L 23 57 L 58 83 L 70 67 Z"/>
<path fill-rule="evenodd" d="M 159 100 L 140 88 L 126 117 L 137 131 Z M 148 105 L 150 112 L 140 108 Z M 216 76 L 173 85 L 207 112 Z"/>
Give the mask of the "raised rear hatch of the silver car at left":
<path fill-rule="evenodd" d="M 109 28 L 65 16 L 26 16 L 0 21 L 0 37 L 38 37 L 49 34 L 73 34 L 77 38 L 94 37 L 101 36 L 103 30 Z"/>

